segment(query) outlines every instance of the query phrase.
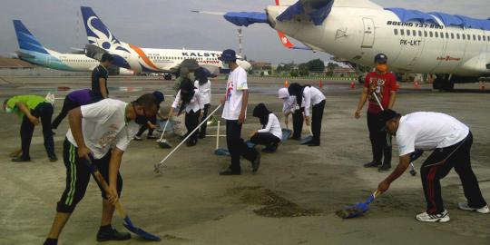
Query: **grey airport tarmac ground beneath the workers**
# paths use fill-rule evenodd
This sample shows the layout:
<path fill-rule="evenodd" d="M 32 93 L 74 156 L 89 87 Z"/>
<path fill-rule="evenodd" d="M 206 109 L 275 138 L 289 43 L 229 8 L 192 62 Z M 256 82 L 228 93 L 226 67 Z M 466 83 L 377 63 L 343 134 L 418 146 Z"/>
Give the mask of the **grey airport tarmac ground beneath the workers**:
<path fill-rule="evenodd" d="M 296 81 L 289 80 L 289 83 Z M 318 84 L 318 81 L 301 83 Z M 132 101 L 138 95 L 162 90 L 171 94 L 173 81 L 155 78 L 111 77 L 110 95 Z M 266 103 L 279 116 L 282 104 L 276 91 L 284 83 L 278 78 L 250 78 L 249 113 L 257 103 Z M 421 223 L 415 215 L 425 211 L 420 177 L 406 172 L 387 193 L 371 204 L 364 216 L 341 220 L 335 211 L 364 201 L 388 173 L 365 169 L 370 161 L 370 144 L 365 113 L 354 119 L 361 86 L 350 89 L 348 81 L 323 81 L 327 104 L 320 147 L 299 146 L 287 141 L 273 154 L 262 154 L 257 174 L 242 160 L 242 175 L 219 176 L 228 157 L 213 154 L 215 138 L 197 146 L 182 146 L 166 163 L 161 175 L 153 173 L 171 149 L 153 141 L 132 142 L 123 156 L 124 187 L 121 201 L 132 220 L 144 230 L 158 234 L 165 244 L 490 244 L 490 215 L 459 211 L 465 201 L 455 171 L 442 181 L 443 197 L 451 221 Z M 0 99 L 15 94 L 48 91 L 63 98 L 66 89 L 90 86 L 86 77 L 2 77 Z M 213 93 L 224 90 L 225 81 L 213 82 Z M 464 89 L 460 89 L 464 88 Z M 465 122 L 475 135 L 472 165 L 487 201 L 490 200 L 490 94 L 479 93 L 476 84 L 456 84 L 458 93 L 437 93 L 429 85 L 414 89 L 402 84 L 396 110 L 400 113 L 432 111 L 449 113 Z M 475 89 L 475 90 L 466 90 Z M 172 99 L 164 102 L 168 108 Z M 219 96 L 213 96 L 213 105 Z M 56 100 L 55 113 L 63 100 Z M 54 218 L 56 201 L 64 190 L 63 160 L 49 162 L 44 152 L 40 127 L 31 146 L 33 162 L 10 162 L 9 152 L 20 147 L 20 120 L 1 112 L 0 121 L 0 244 L 41 244 Z M 65 119 L 54 137 L 58 157 L 67 130 Z M 260 127 L 249 117 L 242 131 L 245 138 Z M 216 127 L 209 128 L 215 134 Z M 224 129 L 221 129 L 221 133 Z M 304 135 L 307 135 L 304 128 Z M 177 137 L 168 138 L 177 145 Z M 395 141 L 394 141 L 395 142 Z M 225 146 L 224 138 L 220 145 Z M 394 165 L 397 164 L 394 147 Z M 426 154 L 424 155 L 426 156 Z M 415 162 L 417 169 L 425 158 Z M 418 171 L 418 170 L 417 170 Z M 100 225 L 101 198 L 94 181 L 67 223 L 60 244 L 96 244 Z M 125 230 L 115 215 L 113 226 Z M 135 238 L 103 244 L 140 244 Z"/>

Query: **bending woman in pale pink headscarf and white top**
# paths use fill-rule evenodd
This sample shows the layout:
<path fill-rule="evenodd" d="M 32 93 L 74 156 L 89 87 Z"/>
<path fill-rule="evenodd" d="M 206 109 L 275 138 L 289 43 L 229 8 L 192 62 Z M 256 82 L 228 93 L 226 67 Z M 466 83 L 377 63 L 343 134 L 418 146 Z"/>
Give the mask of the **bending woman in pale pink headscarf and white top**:
<path fill-rule="evenodd" d="M 296 96 L 290 96 L 287 88 L 279 89 L 279 99 L 282 100 L 282 113 L 284 113 L 286 126 L 289 124 L 289 114 L 292 113 L 293 118 L 293 134 L 291 139 L 301 140 L 301 132 L 303 131 L 303 112 L 305 111 L 305 100 L 299 106 L 296 103 Z"/>

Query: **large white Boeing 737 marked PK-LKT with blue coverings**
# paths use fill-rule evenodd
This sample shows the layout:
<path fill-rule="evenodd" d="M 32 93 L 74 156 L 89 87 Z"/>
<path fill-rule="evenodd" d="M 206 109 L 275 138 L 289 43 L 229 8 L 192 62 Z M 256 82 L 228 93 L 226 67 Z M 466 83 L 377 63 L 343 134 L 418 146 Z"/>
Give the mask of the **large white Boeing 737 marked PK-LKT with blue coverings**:
<path fill-rule="evenodd" d="M 223 16 L 239 26 L 268 24 L 279 35 L 353 64 L 373 66 L 376 54 L 387 54 L 393 72 L 438 74 L 436 89 L 490 76 L 490 19 L 384 8 L 368 0 L 276 0 L 265 13 Z M 286 36 L 280 39 L 294 46 Z"/>

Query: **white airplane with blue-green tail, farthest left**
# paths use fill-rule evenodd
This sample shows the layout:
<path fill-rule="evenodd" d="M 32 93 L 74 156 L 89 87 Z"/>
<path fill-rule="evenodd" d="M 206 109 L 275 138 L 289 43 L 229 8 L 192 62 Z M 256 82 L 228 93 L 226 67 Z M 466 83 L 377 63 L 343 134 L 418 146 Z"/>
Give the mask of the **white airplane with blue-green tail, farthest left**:
<path fill-rule="evenodd" d="M 69 72 L 92 72 L 93 68 L 99 65 L 99 61 L 85 54 L 63 54 L 45 48 L 20 20 L 14 20 L 14 28 L 19 44 L 19 51 L 13 54 L 15 58 L 30 64 Z M 121 68 L 119 73 L 133 74 L 134 72 Z"/>

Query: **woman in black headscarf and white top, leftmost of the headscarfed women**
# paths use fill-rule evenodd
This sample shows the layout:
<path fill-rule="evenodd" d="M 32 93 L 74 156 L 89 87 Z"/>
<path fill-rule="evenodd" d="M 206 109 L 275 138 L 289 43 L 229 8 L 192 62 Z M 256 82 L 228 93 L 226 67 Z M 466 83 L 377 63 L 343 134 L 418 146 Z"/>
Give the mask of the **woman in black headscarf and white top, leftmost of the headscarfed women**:
<path fill-rule="evenodd" d="M 180 115 L 183 110 L 185 110 L 185 127 L 187 128 L 186 136 L 191 133 L 198 125 L 200 118 L 202 117 L 202 109 L 204 109 L 204 104 L 201 100 L 201 94 L 199 90 L 194 87 L 189 78 L 183 78 L 181 82 L 181 89 L 175 96 L 175 101 L 171 104 L 171 110 L 169 112 L 169 118 L 175 111 L 175 108 L 179 106 L 181 103 L 181 107 L 179 109 Z M 192 133 L 189 140 L 186 142 L 187 146 L 196 145 L 198 140 L 198 132 Z"/>

